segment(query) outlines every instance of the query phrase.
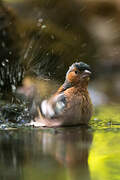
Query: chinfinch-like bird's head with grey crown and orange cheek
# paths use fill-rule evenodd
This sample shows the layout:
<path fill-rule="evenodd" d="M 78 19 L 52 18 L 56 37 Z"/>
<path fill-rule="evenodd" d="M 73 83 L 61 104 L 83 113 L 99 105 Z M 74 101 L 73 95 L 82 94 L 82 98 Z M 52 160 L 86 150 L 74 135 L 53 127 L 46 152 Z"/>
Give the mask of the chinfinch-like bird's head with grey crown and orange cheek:
<path fill-rule="evenodd" d="M 72 64 L 66 74 L 66 81 L 73 85 L 87 85 L 91 75 L 91 68 L 83 62 Z"/>

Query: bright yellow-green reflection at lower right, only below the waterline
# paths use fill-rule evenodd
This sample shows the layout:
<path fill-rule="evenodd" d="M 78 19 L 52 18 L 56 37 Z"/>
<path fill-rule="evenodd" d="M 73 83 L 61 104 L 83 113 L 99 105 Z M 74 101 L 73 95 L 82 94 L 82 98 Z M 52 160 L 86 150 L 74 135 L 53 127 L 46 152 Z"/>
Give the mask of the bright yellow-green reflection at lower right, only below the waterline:
<path fill-rule="evenodd" d="M 89 153 L 92 180 L 120 179 L 120 131 L 96 131 Z"/>

